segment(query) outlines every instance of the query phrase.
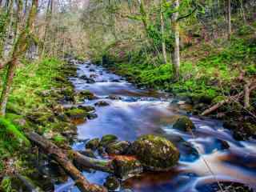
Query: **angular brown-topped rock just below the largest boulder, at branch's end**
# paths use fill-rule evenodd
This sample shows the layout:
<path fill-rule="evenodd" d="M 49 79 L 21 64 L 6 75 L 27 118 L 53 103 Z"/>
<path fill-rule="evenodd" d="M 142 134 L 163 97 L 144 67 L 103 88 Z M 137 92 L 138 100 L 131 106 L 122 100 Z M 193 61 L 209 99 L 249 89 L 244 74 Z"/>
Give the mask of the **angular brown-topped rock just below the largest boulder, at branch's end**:
<path fill-rule="evenodd" d="M 135 175 L 142 174 L 143 166 L 137 158 L 133 156 L 116 155 L 113 160 L 114 175 L 122 180 L 132 178 Z"/>

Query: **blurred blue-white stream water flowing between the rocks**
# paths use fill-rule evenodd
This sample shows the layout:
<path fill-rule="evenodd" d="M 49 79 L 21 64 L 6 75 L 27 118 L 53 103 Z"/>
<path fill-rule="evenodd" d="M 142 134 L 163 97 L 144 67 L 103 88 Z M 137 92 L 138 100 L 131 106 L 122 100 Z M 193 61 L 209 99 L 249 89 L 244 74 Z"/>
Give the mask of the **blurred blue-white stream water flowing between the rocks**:
<path fill-rule="evenodd" d="M 93 77 L 88 84 L 82 75 Z M 78 64 L 78 77 L 70 78 L 76 90 L 90 90 L 98 99 L 85 101 L 94 105 L 106 101 L 110 106 L 96 107 L 98 118 L 78 126 L 78 138 L 101 138 L 115 134 L 120 140 L 134 141 L 142 134 L 158 134 L 173 141 L 180 150 L 178 166 L 169 172 L 145 173 L 122 183 L 122 189 L 134 192 L 211 192 L 218 181 L 240 182 L 256 188 L 256 141 L 238 142 L 222 122 L 188 114 L 190 106 L 168 98 L 166 94 L 138 89 L 125 79 L 90 62 Z M 109 95 L 121 100 L 111 100 Z M 194 122 L 194 133 L 172 129 L 178 115 L 187 114 Z M 226 146 L 230 146 L 226 149 Z M 84 142 L 74 143 L 74 150 L 83 150 Z M 196 152 L 198 150 L 199 153 Z M 199 154 L 199 155 L 198 155 Z M 84 172 L 90 182 L 102 185 L 106 173 Z M 121 189 L 121 190 L 122 190 Z M 55 191 L 79 191 L 71 180 L 56 185 Z"/>

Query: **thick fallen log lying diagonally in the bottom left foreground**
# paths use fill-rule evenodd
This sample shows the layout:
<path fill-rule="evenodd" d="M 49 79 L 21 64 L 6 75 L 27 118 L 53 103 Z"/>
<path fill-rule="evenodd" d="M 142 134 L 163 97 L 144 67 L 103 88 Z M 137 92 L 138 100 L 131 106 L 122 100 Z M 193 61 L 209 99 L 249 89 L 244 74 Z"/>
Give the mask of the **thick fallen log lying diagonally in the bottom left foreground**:
<path fill-rule="evenodd" d="M 45 138 L 36 133 L 26 134 L 27 138 L 35 145 L 39 146 L 47 154 L 58 162 L 60 166 L 66 171 L 67 174 L 74 180 L 75 185 L 78 186 L 79 190 L 82 192 L 106 192 L 106 188 L 103 186 L 98 186 L 90 184 L 82 173 L 73 165 L 73 163 L 68 158 L 68 155 L 64 153 L 58 146 L 55 146 L 52 142 L 47 141 Z"/>

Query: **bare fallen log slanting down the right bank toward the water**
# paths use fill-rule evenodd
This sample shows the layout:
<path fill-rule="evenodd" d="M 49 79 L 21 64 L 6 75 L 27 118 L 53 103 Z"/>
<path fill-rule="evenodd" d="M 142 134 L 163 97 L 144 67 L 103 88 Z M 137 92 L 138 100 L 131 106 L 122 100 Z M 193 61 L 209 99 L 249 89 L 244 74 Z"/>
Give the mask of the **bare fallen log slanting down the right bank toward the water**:
<path fill-rule="evenodd" d="M 255 89 L 256 89 L 256 85 L 253 85 L 247 91 L 250 93 L 252 90 L 255 90 Z M 218 108 L 223 106 L 224 104 L 226 104 L 228 102 L 236 101 L 239 98 L 242 98 L 243 94 L 245 94 L 244 91 L 242 91 L 239 94 L 235 94 L 234 96 L 230 96 L 229 98 L 226 98 L 226 99 L 222 100 L 221 102 L 216 103 L 214 106 L 211 106 L 209 109 L 203 111 L 201 115 L 204 116 L 204 115 L 210 114 L 210 113 L 214 112 L 214 110 L 218 110 Z"/>

